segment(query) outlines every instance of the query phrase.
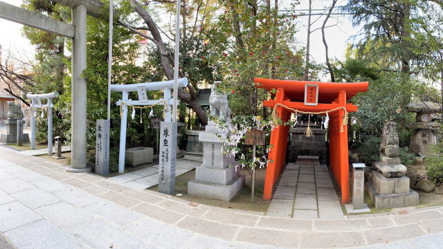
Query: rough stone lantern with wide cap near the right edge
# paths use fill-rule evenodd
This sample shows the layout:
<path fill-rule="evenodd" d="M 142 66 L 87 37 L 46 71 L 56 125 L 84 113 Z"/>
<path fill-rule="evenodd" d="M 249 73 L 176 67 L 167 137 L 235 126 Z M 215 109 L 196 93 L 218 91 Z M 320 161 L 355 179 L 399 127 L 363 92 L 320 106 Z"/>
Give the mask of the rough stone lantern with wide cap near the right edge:
<path fill-rule="evenodd" d="M 408 111 L 417 113 L 415 123 L 410 125 L 414 130 L 410 137 L 409 151 L 414 153 L 417 158 L 415 163 L 423 162 L 426 153 L 433 145 L 437 145 L 437 131 L 440 127 L 435 122 L 435 113 L 440 113 L 440 107 L 433 102 L 417 102 L 408 104 Z"/>

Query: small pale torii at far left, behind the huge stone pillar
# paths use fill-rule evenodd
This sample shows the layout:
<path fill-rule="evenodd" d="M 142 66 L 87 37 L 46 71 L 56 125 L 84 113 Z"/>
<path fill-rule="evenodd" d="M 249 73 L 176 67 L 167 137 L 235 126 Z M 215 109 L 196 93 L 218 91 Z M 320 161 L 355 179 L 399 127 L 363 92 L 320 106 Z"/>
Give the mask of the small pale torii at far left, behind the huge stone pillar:
<path fill-rule="evenodd" d="M 53 98 L 58 96 L 58 92 L 42 94 L 26 94 L 26 98 L 31 100 L 30 108 L 30 149 L 35 149 L 35 109 L 48 108 L 48 156 L 53 154 Z M 48 102 L 42 104 L 42 99 Z"/>

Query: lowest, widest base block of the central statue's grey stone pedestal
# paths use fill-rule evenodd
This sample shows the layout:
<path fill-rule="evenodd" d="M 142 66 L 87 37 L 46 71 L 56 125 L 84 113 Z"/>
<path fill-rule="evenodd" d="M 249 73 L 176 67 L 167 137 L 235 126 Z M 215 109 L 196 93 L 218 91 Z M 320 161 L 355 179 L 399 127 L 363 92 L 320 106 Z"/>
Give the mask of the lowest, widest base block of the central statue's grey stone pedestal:
<path fill-rule="evenodd" d="M 230 201 L 242 189 L 244 176 L 236 178 L 229 185 L 202 183 L 199 181 L 188 182 L 188 194 L 201 196 L 208 199 Z"/>

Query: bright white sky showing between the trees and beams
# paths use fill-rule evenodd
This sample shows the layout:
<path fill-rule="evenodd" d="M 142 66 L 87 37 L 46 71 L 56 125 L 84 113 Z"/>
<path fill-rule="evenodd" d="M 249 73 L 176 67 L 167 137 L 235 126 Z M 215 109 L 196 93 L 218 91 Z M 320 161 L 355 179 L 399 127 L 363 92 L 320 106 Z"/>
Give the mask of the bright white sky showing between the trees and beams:
<path fill-rule="evenodd" d="M 22 0 L 0 0 L 6 1 L 15 6 L 20 6 Z M 288 9 L 291 2 L 296 0 L 278 0 L 279 9 Z M 330 0 L 313 0 L 313 9 L 324 9 L 327 8 L 332 1 Z M 343 6 L 347 1 L 338 0 L 336 6 Z M 300 0 L 300 4 L 296 7 L 300 12 L 307 13 L 309 8 L 309 1 Z M 321 13 L 323 11 L 313 11 L 313 13 Z M 334 10 L 338 12 L 338 10 Z M 312 20 L 317 19 L 318 16 L 312 16 Z M 347 43 L 350 42 L 349 38 L 356 34 L 356 29 L 352 27 L 351 22 L 347 17 L 342 15 L 334 15 L 334 18 L 330 18 L 327 26 L 337 24 L 331 28 L 325 30 L 325 37 L 327 44 L 329 46 L 329 57 L 336 59 L 343 59 L 345 48 Z M 312 30 L 315 28 L 320 28 L 323 24 L 324 16 L 320 17 L 316 24 L 312 26 Z M 298 17 L 300 21 L 300 30 L 298 32 L 298 46 L 306 46 L 307 41 L 307 17 Z M 21 35 L 21 24 L 17 24 L 12 21 L 7 21 L 0 19 L 0 45 L 3 46 L 3 55 L 7 53 L 8 50 L 12 50 L 16 55 L 19 54 L 23 57 L 32 58 L 35 55 L 35 47 L 32 46 L 28 39 Z M 311 33 L 311 59 L 318 63 L 325 63 L 325 46 L 323 45 L 321 30 L 318 29 L 314 33 Z"/>

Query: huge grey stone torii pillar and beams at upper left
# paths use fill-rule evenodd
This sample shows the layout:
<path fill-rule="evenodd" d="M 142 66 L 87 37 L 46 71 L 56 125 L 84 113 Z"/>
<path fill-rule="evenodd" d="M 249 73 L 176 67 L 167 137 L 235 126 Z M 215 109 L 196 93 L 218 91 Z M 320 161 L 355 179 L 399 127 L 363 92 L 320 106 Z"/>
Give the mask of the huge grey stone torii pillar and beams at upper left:
<path fill-rule="evenodd" d="M 86 17 L 100 17 L 103 6 L 98 0 L 53 0 L 72 8 L 72 24 L 66 24 L 36 12 L 0 1 L 0 18 L 46 30 L 73 39 L 72 103 L 71 103 L 71 166 L 69 172 L 89 172 L 86 163 L 87 85 L 81 76 L 87 66 Z"/>

